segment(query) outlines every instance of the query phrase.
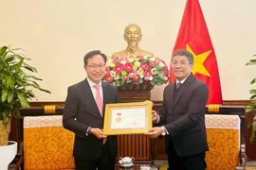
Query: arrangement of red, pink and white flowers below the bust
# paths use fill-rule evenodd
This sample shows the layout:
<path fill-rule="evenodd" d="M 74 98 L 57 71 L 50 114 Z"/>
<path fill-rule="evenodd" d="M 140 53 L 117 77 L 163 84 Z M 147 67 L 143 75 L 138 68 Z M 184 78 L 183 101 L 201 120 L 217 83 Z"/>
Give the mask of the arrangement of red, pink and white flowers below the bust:
<path fill-rule="evenodd" d="M 160 86 L 168 82 L 168 67 L 162 59 L 148 56 L 108 57 L 103 78 L 114 86 L 150 82 Z"/>

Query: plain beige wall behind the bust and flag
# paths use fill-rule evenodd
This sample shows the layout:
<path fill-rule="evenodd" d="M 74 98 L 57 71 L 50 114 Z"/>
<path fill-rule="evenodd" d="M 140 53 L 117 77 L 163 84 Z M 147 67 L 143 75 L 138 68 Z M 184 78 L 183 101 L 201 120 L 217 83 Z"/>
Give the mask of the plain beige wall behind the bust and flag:
<path fill-rule="evenodd" d="M 223 98 L 248 99 L 256 54 L 255 0 L 200 0 L 219 64 Z M 142 28 L 141 49 L 170 64 L 186 0 L 1 0 L 0 46 L 25 49 L 52 92 L 35 92 L 41 101 L 64 101 L 66 88 L 85 77 L 82 58 L 101 49 L 124 49 L 123 28 Z M 155 87 L 160 100 L 164 86 Z M 254 86 L 255 88 L 255 86 Z"/>

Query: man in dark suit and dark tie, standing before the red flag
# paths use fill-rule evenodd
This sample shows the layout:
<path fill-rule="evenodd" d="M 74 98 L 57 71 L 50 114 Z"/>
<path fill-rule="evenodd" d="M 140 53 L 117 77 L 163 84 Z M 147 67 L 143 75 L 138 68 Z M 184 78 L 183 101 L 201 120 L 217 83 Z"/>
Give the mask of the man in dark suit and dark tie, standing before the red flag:
<path fill-rule="evenodd" d="M 153 111 L 155 126 L 148 135 L 166 135 L 166 152 L 170 170 L 206 169 L 207 144 L 205 112 L 209 97 L 208 86 L 192 75 L 193 56 L 178 50 L 172 57 L 176 81 L 164 89 L 159 114 Z"/>

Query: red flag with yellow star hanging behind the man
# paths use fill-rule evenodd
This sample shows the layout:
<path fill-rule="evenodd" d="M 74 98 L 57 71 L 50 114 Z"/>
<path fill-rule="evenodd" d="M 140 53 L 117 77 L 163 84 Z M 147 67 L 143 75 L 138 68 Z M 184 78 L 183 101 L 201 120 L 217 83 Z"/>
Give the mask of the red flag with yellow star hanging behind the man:
<path fill-rule="evenodd" d="M 222 93 L 215 52 L 198 0 L 188 0 L 179 28 L 174 51 L 187 49 L 192 52 L 194 64 L 192 73 L 208 86 L 208 104 L 222 105 Z M 170 69 L 171 70 L 171 69 Z M 170 82 L 175 77 L 170 72 Z"/>

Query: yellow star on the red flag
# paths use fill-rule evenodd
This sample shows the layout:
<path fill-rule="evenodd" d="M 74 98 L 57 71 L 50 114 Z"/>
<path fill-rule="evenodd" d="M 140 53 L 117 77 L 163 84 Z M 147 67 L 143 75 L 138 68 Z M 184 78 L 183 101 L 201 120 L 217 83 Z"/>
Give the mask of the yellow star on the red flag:
<path fill-rule="evenodd" d="M 195 75 L 196 73 L 198 73 L 201 75 L 210 76 L 210 73 L 204 66 L 204 61 L 209 57 L 211 50 L 199 55 L 195 55 L 189 44 L 186 44 L 186 48 L 189 52 L 192 53 L 193 56 L 192 74 Z"/>

